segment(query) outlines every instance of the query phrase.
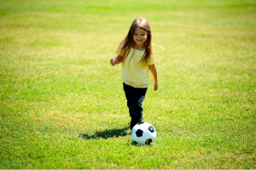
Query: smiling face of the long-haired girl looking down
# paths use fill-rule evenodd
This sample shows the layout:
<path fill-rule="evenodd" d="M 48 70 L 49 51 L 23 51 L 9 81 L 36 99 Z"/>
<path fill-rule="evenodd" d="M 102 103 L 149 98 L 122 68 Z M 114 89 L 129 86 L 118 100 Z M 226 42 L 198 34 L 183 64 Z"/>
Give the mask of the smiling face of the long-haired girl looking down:
<path fill-rule="evenodd" d="M 145 48 L 145 43 L 148 38 L 148 32 L 144 31 L 141 28 L 135 28 L 133 40 L 135 42 L 136 47 L 138 48 Z"/>

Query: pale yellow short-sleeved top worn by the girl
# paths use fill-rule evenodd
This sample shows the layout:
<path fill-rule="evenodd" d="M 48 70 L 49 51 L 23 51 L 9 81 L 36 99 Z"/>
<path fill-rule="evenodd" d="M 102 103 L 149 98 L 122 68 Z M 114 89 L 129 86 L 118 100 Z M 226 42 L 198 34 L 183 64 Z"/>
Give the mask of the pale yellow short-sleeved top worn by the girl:
<path fill-rule="evenodd" d="M 134 54 L 133 54 L 134 52 Z M 131 48 L 125 62 L 122 65 L 121 78 L 125 84 L 128 84 L 134 88 L 148 88 L 149 69 L 148 65 L 154 65 L 155 59 L 153 55 L 150 55 L 148 65 L 143 65 L 140 60 L 143 58 L 145 50 L 140 51 Z M 133 54 L 133 55 L 132 55 Z"/>

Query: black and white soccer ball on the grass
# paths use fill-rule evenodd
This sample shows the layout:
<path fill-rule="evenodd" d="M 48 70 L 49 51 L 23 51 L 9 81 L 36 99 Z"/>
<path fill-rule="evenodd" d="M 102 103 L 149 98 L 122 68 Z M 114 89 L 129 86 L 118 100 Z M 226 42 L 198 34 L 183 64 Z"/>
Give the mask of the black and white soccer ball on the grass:
<path fill-rule="evenodd" d="M 132 128 L 131 139 L 137 144 L 150 144 L 156 138 L 154 127 L 148 122 L 137 123 Z"/>

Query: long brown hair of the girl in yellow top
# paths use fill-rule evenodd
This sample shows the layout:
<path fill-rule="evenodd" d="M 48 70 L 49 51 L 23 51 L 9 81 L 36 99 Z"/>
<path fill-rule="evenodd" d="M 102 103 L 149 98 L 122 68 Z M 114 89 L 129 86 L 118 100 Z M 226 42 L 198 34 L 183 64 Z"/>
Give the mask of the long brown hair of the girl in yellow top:
<path fill-rule="evenodd" d="M 140 61 L 143 63 L 143 65 L 148 65 L 148 60 L 150 59 L 150 55 L 153 54 L 153 56 L 155 57 L 155 54 L 154 54 L 154 49 L 152 48 L 151 29 L 150 29 L 148 20 L 146 19 L 137 18 L 133 20 L 127 36 L 122 42 L 120 42 L 119 47 L 116 49 L 116 54 L 120 54 L 121 58 L 123 59 L 123 62 L 125 61 L 125 59 L 127 58 L 128 54 L 131 51 L 131 48 L 133 48 L 136 43 L 133 40 L 133 36 L 136 28 L 140 28 L 148 32 L 147 40 L 146 42 L 144 42 L 145 52 L 143 54 L 143 58 Z"/>

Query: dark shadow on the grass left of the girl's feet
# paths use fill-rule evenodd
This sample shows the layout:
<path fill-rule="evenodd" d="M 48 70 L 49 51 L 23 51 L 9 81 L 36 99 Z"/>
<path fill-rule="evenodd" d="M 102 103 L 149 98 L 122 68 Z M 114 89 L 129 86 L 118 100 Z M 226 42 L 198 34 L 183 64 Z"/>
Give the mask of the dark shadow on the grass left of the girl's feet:
<path fill-rule="evenodd" d="M 128 133 L 126 131 L 130 127 L 120 128 L 120 129 L 110 129 L 105 131 L 98 131 L 92 135 L 80 133 L 79 137 L 83 139 L 108 139 L 108 138 L 118 138 L 120 136 L 126 136 Z"/>

